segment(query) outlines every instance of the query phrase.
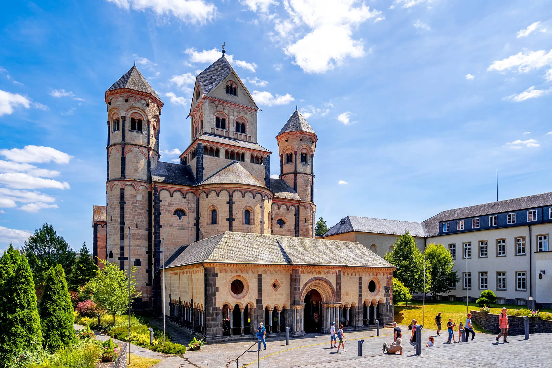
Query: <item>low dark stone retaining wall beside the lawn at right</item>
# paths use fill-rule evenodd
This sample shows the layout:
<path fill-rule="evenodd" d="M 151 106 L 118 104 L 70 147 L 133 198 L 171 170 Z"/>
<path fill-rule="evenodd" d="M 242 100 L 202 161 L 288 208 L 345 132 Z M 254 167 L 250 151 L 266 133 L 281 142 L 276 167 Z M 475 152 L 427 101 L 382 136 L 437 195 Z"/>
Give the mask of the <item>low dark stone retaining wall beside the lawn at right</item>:
<path fill-rule="evenodd" d="M 479 311 L 470 311 L 473 316 L 472 321 L 482 328 L 493 333 L 499 333 L 498 314 L 481 313 Z M 508 316 L 508 335 L 525 334 L 525 322 L 523 317 Z M 545 321 L 540 318 L 529 318 L 529 333 L 552 333 L 552 321 Z"/>

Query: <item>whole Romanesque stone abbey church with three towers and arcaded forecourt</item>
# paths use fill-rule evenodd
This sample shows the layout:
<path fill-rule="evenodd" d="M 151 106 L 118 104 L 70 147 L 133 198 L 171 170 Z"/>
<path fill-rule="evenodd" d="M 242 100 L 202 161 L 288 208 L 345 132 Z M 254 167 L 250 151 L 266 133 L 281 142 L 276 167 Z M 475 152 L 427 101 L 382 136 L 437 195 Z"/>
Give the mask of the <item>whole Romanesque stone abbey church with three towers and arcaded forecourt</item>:
<path fill-rule="evenodd" d="M 164 308 L 209 341 L 250 338 L 260 322 L 295 337 L 331 322 L 390 323 L 394 266 L 358 242 L 314 237 L 314 129 L 298 110 L 283 117 L 271 160 L 257 142 L 259 108 L 224 52 L 196 78 L 180 163 L 159 161 L 163 102 L 136 66 L 105 92 L 107 206 L 93 208 L 94 256 L 136 266 L 133 308 Z"/>

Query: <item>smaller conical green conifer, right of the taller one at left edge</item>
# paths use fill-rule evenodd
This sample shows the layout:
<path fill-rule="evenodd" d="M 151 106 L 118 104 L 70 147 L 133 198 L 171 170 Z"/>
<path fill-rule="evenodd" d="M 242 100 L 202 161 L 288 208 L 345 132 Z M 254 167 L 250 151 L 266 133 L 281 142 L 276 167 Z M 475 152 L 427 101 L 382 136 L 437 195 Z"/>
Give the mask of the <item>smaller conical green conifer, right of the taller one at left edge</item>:
<path fill-rule="evenodd" d="M 73 305 L 61 264 L 51 267 L 46 274 L 46 285 L 40 302 L 40 322 L 45 349 L 56 351 L 76 341 Z"/>

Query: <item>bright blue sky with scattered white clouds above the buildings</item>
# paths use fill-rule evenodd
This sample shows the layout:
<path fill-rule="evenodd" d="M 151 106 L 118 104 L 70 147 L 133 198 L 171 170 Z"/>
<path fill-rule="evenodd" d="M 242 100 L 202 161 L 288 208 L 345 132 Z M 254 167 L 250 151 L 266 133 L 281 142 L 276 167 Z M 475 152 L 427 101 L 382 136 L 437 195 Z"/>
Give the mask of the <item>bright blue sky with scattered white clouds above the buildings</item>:
<path fill-rule="evenodd" d="M 0 13 L 0 252 L 52 223 L 92 245 L 104 93 L 134 62 L 164 102 L 161 160 L 190 143 L 195 76 L 227 58 L 258 142 L 299 106 L 316 216 L 423 221 L 551 191 L 552 4 L 470 0 L 12 1 Z M 276 158 L 276 159 L 275 159 Z M 277 154 L 272 174 L 279 173 Z"/>

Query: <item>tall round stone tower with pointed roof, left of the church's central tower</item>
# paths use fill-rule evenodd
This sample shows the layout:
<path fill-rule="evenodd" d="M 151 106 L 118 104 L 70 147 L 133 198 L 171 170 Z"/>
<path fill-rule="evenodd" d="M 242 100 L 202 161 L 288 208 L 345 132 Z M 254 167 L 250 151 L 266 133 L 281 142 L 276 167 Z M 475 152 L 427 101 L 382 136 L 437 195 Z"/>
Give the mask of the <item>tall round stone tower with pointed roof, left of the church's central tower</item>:
<path fill-rule="evenodd" d="M 121 269 L 137 266 L 137 289 L 151 300 L 154 284 L 151 172 L 159 160 L 163 102 L 136 66 L 105 91 L 107 104 L 107 244 L 108 262 Z M 129 227 L 131 259 L 129 259 Z M 156 229 L 158 231 L 158 229 Z M 136 301 L 137 308 L 147 308 Z"/>

